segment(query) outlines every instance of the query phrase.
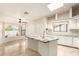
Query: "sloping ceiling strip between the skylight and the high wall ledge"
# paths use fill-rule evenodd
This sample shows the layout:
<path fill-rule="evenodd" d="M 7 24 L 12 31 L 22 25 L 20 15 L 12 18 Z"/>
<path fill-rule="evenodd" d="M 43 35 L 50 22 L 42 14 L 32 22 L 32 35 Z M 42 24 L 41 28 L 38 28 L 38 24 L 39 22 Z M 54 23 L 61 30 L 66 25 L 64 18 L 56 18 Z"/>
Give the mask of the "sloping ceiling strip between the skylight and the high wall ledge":
<path fill-rule="evenodd" d="M 64 13 L 66 11 L 68 11 L 71 7 L 77 5 L 79 3 L 64 3 L 64 6 L 56 9 L 56 10 L 53 10 L 50 14 L 48 14 L 47 16 L 54 16 L 56 13 L 58 14 L 61 14 L 61 13 Z"/>

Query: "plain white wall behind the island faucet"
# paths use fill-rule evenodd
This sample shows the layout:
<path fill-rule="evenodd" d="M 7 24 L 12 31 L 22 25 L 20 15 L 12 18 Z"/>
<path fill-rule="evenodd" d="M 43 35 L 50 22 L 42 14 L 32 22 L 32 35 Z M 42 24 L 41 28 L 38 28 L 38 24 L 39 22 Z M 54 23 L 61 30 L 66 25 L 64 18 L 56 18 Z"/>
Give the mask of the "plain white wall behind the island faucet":
<path fill-rule="evenodd" d="M 31 21 L 26 26 L 26 35 L 43 35 L 43 31 L 47 27 L 46 18 Z"/>

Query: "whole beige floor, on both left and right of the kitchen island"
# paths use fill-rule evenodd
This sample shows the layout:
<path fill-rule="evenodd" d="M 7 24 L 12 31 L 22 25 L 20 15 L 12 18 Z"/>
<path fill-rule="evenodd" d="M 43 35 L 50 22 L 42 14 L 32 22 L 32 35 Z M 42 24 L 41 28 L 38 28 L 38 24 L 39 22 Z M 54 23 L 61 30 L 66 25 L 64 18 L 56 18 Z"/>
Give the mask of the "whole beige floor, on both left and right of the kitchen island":
<path fill-rule="evenodd" d="M 23 42 L 24 43 L 24 42 Z M 26 45 L 23 44 L 23 50 L 19 50 L 18 43 L 5 47 L 5 56 L 40 56 L 40 54 L 31 49 L 24 49 Z M 0 47 L 0 55 L 2 55 L 2 48 Z M 58 45 L 57 47 L 58 56 L 79 56 L 79 49 L 65 47 Z"/>

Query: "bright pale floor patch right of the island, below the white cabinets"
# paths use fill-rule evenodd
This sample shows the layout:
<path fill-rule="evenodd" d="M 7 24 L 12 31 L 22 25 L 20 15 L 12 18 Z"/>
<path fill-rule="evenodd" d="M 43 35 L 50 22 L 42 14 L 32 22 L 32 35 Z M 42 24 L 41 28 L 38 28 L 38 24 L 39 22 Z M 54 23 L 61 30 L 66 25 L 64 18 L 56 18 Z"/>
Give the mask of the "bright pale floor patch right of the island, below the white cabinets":
<path fill-rule="evenodd" d="M 79 56 L 79 49 L 58 45 L 58 56 Z"/>

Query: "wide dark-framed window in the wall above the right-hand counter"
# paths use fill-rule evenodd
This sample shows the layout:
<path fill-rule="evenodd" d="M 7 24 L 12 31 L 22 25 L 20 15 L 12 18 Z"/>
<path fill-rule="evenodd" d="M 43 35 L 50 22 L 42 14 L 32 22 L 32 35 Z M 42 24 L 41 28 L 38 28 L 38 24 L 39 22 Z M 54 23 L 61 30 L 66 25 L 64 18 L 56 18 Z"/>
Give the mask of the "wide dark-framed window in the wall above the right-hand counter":
<path fill-rule="evenodd" d="M 67 32 L 68 31 L 68 23 L 66 22 L 57 22 L 53 25 L 53 32 Z"/>

